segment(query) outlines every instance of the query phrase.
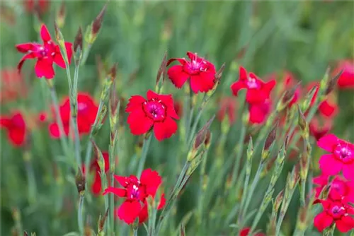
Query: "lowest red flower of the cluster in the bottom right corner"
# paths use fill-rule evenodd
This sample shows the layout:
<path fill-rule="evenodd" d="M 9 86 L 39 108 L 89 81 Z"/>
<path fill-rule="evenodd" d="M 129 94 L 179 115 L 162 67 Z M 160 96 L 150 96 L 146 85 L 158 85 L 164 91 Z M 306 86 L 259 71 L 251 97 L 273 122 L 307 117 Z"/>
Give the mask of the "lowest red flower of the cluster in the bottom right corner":
<path fill-rule="evenodd" d="M 324 208 L 324 211 L 314 218 L 314 226 L 319 232 L 328 228 L 333 222 L 340 232 L 348 232 L 354 228 L 354 218 L 349 216 L 354 214 L 354 208 L 345 198 L 317 199 L 314 203 L 321 203 Z"/>

